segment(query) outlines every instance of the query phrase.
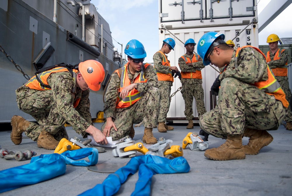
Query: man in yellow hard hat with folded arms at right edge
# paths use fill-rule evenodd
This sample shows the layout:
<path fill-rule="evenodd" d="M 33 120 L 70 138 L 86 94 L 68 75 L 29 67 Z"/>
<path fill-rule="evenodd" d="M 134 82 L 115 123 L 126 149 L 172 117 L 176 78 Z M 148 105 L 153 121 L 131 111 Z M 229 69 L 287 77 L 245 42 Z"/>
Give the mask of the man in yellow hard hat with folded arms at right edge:
<path fill-rule="evenodd" d="M 291 90 L 289 88 L 288 82 L 288 51 L 278 48 L 278 41 L 280 41 L 279 37 L 276 34 L 270 34 L 267 37 L 267 43 L 269 44 L 270 51 L 265 53 L 267 57 L 267 63 L 269 67 L 272 69 L 275 78 L 280 83 L 281 88 L 283 89 L 286 100 L 290 103 L 291 99 Z M 284 118 L 287 130 L 292 130 L 292 113 L 290 109 L 290 105 L 288 106 L 288 112 L 286 117 Z"/>

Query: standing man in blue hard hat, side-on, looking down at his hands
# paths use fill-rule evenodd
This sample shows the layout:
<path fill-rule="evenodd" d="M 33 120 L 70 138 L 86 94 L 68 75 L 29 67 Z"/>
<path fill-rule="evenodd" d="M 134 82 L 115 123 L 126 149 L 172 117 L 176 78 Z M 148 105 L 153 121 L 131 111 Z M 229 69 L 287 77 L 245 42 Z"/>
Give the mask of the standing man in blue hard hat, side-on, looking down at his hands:
<path fill-rule="evenodd" d="M 160 90 L 160 111 L 158 117 L 158 131 L 166 132 L 173 130 L 172 126 L 167 126 L 166 116 L 170 106 L 170 92 L 173 83 L 172 72 L 179 72 L 176 66 L 170 66 L 170 63 L 165 54 L 174 50 L 175 41 L 172 38 L 166 38 L 163 40 L 161 49 L 153 56 L 154 69 L 158 78 L 158 89 Z"/>

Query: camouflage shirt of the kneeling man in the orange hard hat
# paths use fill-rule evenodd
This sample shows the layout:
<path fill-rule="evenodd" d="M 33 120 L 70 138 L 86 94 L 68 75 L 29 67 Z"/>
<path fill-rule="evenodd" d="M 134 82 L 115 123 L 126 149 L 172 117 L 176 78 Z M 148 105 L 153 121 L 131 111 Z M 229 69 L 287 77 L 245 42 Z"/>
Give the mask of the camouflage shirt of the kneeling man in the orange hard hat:
<path fill-rule="evenodd" d="M 93 125 L 91 121 L 91 114 L 89 111 L 90 101 L 89 101 L 89 90 L 82 91 L 79 87 L 76 87 L 76 81 L 74 81 L 72 75 L 69 72 L 57 72 L 52 73 L 47 79 L 48 84 L 51 86 L 53 103 L 60 117 L 55 120 L 55 123 L 67 121 L 72 125 L 72 128 L 78 133 L 84 136 L 84 132 L 90 125 Z M 76 87 L 75 91 L 72 89 Z M 21 99 L 28 96 L 33 96 L 37 90 L 29 89 L 29 87 L 22 85 L 16 90 L 17 100 L 21 102 Z M 73 107 L 75 100 L 80 98 L 79 104 L 76 108 Z M 43 103 L 46 105 L 48 101 L 44 100 Z M 63 118 L 63 119 L 59 119 Z"/>

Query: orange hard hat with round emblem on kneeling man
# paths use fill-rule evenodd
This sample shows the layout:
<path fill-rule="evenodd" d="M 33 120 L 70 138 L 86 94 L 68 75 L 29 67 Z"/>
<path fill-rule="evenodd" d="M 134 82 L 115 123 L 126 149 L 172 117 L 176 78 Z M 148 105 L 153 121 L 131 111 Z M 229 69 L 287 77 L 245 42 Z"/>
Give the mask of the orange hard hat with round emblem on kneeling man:
<path fill-rule="evenodd" d="M 93 91 L 98 91 L 105 78 L 102 64 L 96 60 L 86 60 L 79 63 L 78 69 L 88 87 Z"/>

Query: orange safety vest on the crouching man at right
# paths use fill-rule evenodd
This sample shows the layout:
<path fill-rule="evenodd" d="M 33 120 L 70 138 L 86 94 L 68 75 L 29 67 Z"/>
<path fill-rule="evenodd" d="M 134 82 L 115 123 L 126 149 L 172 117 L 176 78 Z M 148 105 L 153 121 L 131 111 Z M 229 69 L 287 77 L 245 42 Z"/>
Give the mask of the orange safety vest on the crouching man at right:
<path fill-rule="evenodd" d="M 237 68 L 237 56 L 239 54 L 239 51 L 242 48 L 246 48 L 246 47 L 252 47 L 256 49 L 259 53 L 261 53 L 265 57 L 265 54 L 262 51 L 260 51 L 260 49 L 253 46 L 243 46 L 241 48 L 237 48 L 237 51 L 235 53 L 235 67 L 236 68 Z M 254 84 L 251 84 L 251 85 L 258 87 L 258 89 L 267 93 L 268 95 L 274 96 L 275 99 L 280 100 L 282 102 L 284 107 L 288 108 L 289 103 L 285 98 L 285 93 L 281 89 L 279 82 L 275 79 L 274 74 L 272 73 L 268 65 L 267 65 L 267 71 L 268 71 L 268 79 L 266 81 L 255 82 Z"/>

